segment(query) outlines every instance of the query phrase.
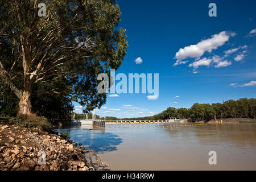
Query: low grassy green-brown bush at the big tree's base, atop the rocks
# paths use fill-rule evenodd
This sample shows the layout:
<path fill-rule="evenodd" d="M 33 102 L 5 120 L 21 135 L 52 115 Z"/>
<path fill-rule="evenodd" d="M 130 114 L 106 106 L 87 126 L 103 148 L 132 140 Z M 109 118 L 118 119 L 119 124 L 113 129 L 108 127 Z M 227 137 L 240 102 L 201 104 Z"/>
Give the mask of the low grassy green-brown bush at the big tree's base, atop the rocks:
<path fill-rule="evenodd" d="M 48 122 L 47 118 L 38 117 L 35 114 L 32 115 L 19 115 L 14 119 L 10 119 L 12 123 L 20 127 L 26 127 L 31 129 L 36 127 L 42 131 L 51 131 L 52 125 Z"/>

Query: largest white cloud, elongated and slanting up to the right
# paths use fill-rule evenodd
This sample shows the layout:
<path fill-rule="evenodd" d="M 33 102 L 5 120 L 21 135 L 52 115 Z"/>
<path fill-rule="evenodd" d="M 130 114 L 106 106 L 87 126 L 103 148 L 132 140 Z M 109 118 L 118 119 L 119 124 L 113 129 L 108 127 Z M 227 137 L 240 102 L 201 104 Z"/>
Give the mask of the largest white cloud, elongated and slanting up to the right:
<path fill-rule="evenodd" d="M 219 34 L 212 35 L 211 38 L 202 40 L 196 45 L 187 46 L 184 48 L 180 48 L 178 52 L 176 52 L 175 59 L 176 65 L 179 64 L 181 60 L 184 60 L 188 57 L 200 59 L 201 56 L 204 55 L 205 52 L 211 52 L 213 49 L 217 49 L 227 42 L 232 36 L 226 31 L 222 31 Z"/>

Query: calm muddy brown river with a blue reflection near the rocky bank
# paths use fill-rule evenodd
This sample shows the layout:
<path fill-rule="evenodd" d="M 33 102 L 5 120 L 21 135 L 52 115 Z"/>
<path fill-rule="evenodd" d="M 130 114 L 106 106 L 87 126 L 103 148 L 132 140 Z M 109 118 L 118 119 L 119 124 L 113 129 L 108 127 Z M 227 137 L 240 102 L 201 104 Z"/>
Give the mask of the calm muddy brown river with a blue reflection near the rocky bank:
<path fill-rule="evenodd" d="M 256 170 L 256 123 L 122 123 L 90 129 L 56 130 L 96 151 L 111 170 Z M 216 151 L 216 165 L 209 164 L 209 151 Z"/>

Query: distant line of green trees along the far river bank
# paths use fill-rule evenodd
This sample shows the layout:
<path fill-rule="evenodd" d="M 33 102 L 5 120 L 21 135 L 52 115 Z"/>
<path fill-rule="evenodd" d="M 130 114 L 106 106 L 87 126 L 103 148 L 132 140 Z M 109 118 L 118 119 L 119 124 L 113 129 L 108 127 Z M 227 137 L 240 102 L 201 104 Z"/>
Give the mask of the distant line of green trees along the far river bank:
<path fill-rule="evenodd" d="M 256 99 L 241 98 L 214 104 L 195 103 L 189 109 L 168 107 L 162 113 L 151 117 L 123 118 L 123 120 L 157 120 L 168 118 L 182 119 L 218 119 L 218 118 L 256 118 Z M 117 119 L 113 119 L 117 120 Z"/>

